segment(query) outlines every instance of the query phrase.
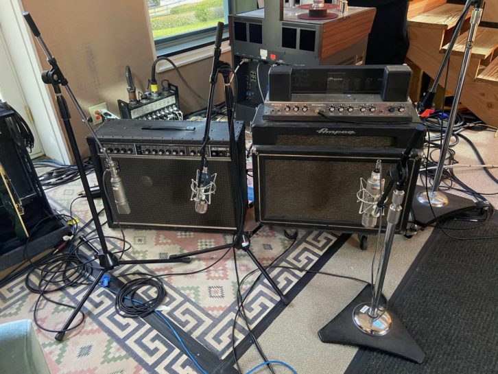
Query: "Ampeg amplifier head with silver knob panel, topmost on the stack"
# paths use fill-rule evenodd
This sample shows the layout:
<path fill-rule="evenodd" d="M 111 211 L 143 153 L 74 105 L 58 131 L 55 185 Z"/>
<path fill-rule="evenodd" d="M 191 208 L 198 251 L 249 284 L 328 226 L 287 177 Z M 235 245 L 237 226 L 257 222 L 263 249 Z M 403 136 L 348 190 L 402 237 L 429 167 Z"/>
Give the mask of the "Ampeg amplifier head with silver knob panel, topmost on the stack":
<path fill-rule="evenodd" d="M 270 68 L 264 119 L 405 122 L 412 69 L 406 65 Z"/>

